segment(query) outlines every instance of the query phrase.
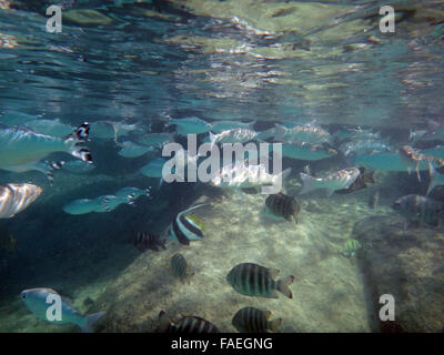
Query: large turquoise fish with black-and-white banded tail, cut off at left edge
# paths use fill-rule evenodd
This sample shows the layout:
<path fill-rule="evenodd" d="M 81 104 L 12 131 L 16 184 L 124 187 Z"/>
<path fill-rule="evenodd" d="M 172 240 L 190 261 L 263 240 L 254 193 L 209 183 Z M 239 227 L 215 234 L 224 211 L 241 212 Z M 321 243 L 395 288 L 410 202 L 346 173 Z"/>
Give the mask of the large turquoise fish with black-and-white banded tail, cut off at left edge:
<path fill-rule="evenodd" d="M 89 135 L 89 123 L 83 123 L 65 140 L 39 134 L 27 129 L 0 130 L 0 169 L 17 170 L 19 165 L 38 162 L 53 152 L 68 152 L 87 162 L 92 162 L 91 153 L 84 146 Z"/>

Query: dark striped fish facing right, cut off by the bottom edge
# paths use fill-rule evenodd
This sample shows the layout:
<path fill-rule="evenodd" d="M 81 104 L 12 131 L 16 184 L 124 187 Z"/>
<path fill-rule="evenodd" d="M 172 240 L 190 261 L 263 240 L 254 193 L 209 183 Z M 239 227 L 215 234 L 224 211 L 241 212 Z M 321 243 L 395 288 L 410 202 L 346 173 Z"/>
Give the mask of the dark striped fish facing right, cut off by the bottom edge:
<path fill-rule="evenodd" d="M 209 321 L 195 317 L 183 316 L 178 322 L 172 322 L 165 312 L 159 313 L 159 327 L 157 333 L 219 333 L 219 329 Z"/>

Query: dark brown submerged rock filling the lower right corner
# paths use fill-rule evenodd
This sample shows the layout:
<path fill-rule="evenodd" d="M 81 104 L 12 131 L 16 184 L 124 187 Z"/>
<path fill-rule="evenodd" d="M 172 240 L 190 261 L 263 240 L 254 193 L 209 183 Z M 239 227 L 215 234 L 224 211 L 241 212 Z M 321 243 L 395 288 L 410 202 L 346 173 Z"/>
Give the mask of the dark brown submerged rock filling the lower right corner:
<path fill-rule="evenodd" d="M 437 230 L 404 231 L 404 221 L 372 216 L 353 227 L 363 245 L 359 264 L 380 332 L 441 332 L 444 324 L 444 236 Z M 393 295 L 395 321 L 382 322 L 380 296 Z M 377 327 L 377 325 L 376 325 Z"/>

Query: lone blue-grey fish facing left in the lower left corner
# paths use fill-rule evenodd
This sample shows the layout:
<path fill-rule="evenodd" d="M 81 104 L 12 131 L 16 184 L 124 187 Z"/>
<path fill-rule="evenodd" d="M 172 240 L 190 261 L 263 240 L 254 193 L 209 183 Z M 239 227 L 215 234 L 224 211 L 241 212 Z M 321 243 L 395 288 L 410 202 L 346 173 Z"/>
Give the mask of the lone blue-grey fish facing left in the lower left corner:
<path fill-rule="evenodd" d="M 72 308 L 70 303 L 63 300 L 54 290 L 52 288 L 31 288 L 24 290 L 20 293 L 21 300 L 28 310 L 33 313 L 38 318 L 50 322 L 52 324 L 75 324 L 83 333 L 91 333 L 92 325 L 100 320 L 104 312 L 93 313 L 89 315 L 83 315 Z M 51 298 L 52 297 L 52 298 Z M 53 297 L 60 297 L 61 304 L 61 320 L 49 321 L 47 317 L 48 307 L 53 303 Z M 51 300 L 51 302 L 47 302 Z M 56 298 L 57 300 L 57 298 Z"/>

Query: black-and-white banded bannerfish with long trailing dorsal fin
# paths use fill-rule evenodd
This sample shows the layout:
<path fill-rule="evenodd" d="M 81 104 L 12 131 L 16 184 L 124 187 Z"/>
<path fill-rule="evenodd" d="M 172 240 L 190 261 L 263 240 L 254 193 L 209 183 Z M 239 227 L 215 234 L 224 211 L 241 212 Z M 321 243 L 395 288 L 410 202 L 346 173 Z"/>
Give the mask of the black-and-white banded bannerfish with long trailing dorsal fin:
<path fill-rule="evenodd" d="M 205 204 L 199 204 L 175 215 L 173 222 L 170 225 L 170 237 L 172 240 L 178 241 L 179 243 L 184 245 L 190 245 L 190 241 L 203 240 L 204 235 L 202 226 L 198 225 L 195 219 L 185 216 L 185 213 L 203 205 Z"/>

